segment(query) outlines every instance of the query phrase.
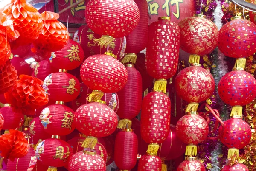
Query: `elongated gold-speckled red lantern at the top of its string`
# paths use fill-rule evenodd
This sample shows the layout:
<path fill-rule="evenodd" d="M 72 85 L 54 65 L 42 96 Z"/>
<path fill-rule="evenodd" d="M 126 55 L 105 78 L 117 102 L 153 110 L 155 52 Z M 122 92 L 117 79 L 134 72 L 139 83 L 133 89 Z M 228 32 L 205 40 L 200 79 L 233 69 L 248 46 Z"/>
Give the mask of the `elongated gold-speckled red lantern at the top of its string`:
<path fill-rule="evenodd" d="M 156 79 L 169 79 L 177 71 L 180 30 L 169 17 L 160 17 L 149 28 L 146 69 Z"/>

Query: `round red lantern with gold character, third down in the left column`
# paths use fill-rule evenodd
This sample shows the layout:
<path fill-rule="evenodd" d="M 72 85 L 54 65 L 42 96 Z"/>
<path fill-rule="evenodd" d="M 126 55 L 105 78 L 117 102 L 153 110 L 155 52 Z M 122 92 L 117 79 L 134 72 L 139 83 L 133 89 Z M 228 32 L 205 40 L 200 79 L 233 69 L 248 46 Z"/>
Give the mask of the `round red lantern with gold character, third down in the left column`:
<path fill-rule="evenodd" d="M 50 135 L 68 135 L 75 129 L 74 111 L 63 104 L 52 104 L 43 109 L 40 115 L 44 132 Z"/>

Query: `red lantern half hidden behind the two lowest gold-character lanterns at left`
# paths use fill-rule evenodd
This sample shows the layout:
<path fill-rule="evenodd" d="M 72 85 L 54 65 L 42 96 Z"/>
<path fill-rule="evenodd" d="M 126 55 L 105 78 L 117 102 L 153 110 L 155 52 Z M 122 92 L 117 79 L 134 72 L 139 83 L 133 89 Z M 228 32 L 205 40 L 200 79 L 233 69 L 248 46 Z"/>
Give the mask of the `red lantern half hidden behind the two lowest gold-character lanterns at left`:
<path fill-rule="evenodd" d="M 54 131 L 54 130 L 53 130 Z M 32 143 L 37 144 L 38 140 L 45 140 L 52 137 L 52 134 L 44 132 L 44 126 L 42 126 L 39 117 L 35 117 L 29 126 L 30 137 Z"/>

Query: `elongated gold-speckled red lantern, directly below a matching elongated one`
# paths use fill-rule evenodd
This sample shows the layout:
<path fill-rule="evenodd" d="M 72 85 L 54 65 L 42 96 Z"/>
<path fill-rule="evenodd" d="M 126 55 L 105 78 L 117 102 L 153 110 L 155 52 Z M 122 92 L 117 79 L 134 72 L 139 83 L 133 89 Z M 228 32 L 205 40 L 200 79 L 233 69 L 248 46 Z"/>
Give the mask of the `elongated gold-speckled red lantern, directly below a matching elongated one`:
<path fill-rule="evenodd" d="M 142 101 L 141 136 L 146 143 L 163 143 L 168 137 L 171 100 L 161 92 L 148 93 Z"/>

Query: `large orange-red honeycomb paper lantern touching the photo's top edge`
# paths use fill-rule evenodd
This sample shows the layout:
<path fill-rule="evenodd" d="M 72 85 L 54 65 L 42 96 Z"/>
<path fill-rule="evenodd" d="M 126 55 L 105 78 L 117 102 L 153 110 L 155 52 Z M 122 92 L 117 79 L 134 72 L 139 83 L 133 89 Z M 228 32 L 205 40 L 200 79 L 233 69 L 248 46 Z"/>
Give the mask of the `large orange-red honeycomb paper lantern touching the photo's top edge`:
<path fill-rule="evenodd" d="M 12 45 L 18 47 L 38 39 L 43 27 L 41 14 L 26 3 L 26 0 L 12 0 L 2 11 L 12 20 L 14 29 L 20 33 L 19 38 L 13 41 Z"/>

